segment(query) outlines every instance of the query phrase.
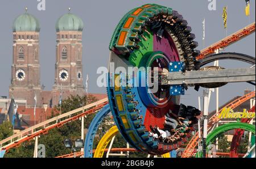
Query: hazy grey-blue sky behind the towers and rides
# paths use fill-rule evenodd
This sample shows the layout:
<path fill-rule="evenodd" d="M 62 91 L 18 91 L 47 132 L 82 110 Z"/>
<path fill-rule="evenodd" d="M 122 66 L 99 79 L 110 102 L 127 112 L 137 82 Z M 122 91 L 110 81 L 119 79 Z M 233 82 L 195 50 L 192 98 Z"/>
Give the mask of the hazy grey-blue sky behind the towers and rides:
<path fill-rule="evenodd" d="M 51 90 L 54 83 L 56 31 L 57 19 L 71 12 L 79 16 L 85 25 L 83 31 L 82 64 L 84 67 L 84 83 L 86 74 L 89 75 L 89 88 L 91 93 L 106 92 L 106 88 L 97 87 L 97 69 L 107 66 L 109 59 L 109 42 L 119 20 L 126 12 L 146 3 L 156 3 L 171 7 L 178 11 L 192 27 L 199 43 L 197 49 L 203 49 L 203 19 L 205 18 L 205 47 L 224 38 L 226 32 L 223 27 L 222 8 L 228 6 L 228 35 L 255 22 L 255 0 L 251 0 L 251 15 L 245 15 L 244 0 L 216 0 L 216 10 L 210 11 L 208 5 L 213 0 L 165 0 L 165 1 L 139 1 L 139 0 L 45 0 L 46 10 L 38 10 L 38 1 L 42 0 L 1 0 L 0 1 L 0 96 L 9 95 L 11 79 L 11 64 L 13 58 L 12 25 L 14 19 L 24 13 L 36 16 L 40 22 L 40 66 L 41 83 L 46 90 Z M 255 57 L 255 33 L 225 48 L 223 52 L 238 52 Z M 225 68 L 249 67 L 250 65 L 238 61 L 220 61 L 220 66 Z M 246 88 L 254 90 L 248 83 L 230 83 L 220 88 L 220 105 L 228 102 L 235 96 L 242 96 Z M 203 88 L 197 92 L 189 88 L 181 97 L 181 103 L 198 107 L 198 96 L 203 95 Z M 213 93 L 210 110 L 215 108 L 216 96 Z M 202 105 L 202 103 L 201 103 Z"/>

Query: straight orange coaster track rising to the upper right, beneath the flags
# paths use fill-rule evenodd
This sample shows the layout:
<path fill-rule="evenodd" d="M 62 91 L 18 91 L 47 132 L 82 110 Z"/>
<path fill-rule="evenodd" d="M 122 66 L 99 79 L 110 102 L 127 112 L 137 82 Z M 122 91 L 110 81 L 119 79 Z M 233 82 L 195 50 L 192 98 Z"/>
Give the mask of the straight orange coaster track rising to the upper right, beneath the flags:
<path fill-rule="evenodd" d="M 237 31 L 236 33 L 233 33 L 232 35 L 225 37 L 224 39 L 218 41 L 217 43 L 214 43 L 209 47 L 201 50 L 201 54 L 197 56 L 197 60 L 202 60 L 209 54 L 214 53 L 216 49 L 228 47 L 229 45 L 236 43 L 236 41 L 243 39 L 243 37 L 246 37 L 253 32 L 255 32 L 255 22 L 245 28 L 240 29 L 239 31 Z"/>

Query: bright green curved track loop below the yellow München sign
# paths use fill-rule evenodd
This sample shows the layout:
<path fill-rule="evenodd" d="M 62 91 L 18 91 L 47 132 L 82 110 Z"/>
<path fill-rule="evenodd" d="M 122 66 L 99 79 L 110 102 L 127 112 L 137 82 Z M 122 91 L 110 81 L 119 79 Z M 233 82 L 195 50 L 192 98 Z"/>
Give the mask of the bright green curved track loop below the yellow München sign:
<path fill-rule="evenodd" d="M 233 130 L 233 129 L 243 129 L 243 130 L 247 130 L 251 133 L 255 134 L 255 126 L 251 125 L 251 124 L 247 124 L 245 122 L 232 122 L 229 124 L 224 124 L 221 126 L 218 126 L 216 129 L 214 129 L 212 132 L 210 132 L 207 136 L 207 145 L 209 145 L 210 143 L 214 142 L 216 140 L 216 137 L 219 134 L 228 132 L 229 130 Z M 197 153 L 197 157 L 201 157 L 201 153 Z"/>

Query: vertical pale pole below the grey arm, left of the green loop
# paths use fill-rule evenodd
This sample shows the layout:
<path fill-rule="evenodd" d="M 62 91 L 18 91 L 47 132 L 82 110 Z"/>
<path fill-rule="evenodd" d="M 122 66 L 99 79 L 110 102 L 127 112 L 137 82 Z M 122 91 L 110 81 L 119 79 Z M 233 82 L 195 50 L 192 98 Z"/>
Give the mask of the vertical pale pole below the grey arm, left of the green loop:
<path fill-rule="evenodd" d="M 203 157 L 206 158 L 207 157 L 207 130 L 208 130 L 208 98 L 209 98 L 209 90 L 204 90 L 204 130 L 203 130 Z"/>

